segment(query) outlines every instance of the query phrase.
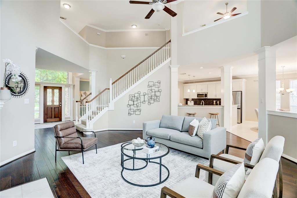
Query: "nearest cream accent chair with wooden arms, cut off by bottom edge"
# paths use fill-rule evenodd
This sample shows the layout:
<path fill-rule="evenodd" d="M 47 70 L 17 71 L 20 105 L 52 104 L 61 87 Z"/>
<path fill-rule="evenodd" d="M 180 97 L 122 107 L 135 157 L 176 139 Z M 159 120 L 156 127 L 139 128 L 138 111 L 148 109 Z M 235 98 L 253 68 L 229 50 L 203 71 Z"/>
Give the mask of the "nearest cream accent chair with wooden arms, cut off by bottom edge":
<path fill-rule="evenodd" d="M 249 177 L 242 186 L 238 198 L 257 197 L 271 198 L 274 193 L 274 182 L 277 177 L 278 162 L 271 158 L 264 158 L 256 164 Z M 195 177 L 189 177 L 173 188 L 163 187 L 161 198 L 194 198 L 212 197 L 214 186 L 199 179 L 200 169 L 221 176 L 223 172 L 198 164 Z"/>

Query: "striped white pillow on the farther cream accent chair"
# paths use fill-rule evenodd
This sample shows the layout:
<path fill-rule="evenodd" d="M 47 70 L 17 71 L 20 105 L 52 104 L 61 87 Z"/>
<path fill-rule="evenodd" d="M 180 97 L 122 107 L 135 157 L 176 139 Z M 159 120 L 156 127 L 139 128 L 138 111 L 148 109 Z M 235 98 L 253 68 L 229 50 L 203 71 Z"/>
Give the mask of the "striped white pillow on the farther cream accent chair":
<path fill-rule="evenodd" d="M 249 146 L 247 147 L 247 151 L 245 152 L 243 162 L 245 164 L 256 165 L 260 160 L 263 150 L 264 150 L 264 142 L 262 138 L 256 139 L 254 142 L 250 143 Z M 244 169 L 245 169 L 246 175 L 248 175 L 252 171 L 252 169 L 249 169 L 249 168 L 244 168 Z"/>

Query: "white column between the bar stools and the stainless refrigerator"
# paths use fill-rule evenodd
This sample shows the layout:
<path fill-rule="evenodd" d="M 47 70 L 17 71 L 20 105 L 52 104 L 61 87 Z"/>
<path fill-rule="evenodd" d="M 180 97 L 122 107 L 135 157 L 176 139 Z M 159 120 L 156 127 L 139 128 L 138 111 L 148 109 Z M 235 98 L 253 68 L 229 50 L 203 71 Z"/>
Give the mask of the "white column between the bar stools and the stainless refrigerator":
<path fill-rule="evenodd" d="M 222 122 L 227 131 L 232 131 L 232 67 L 223 66 L 220 69 L 221 104 L 224 106 Z"/>

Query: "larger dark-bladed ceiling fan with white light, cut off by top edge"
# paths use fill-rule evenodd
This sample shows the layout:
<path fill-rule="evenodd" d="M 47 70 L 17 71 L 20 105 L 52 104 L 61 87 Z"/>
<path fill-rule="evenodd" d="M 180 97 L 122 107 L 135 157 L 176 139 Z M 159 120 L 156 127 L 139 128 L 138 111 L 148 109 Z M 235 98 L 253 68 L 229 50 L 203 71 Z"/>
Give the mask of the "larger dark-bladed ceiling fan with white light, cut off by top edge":
<path fill-rule="evenodd" d="M 129 1 L 130 4 L 150 4 L 152 5 L 151 11 L 146 15 L 146 19 L 149 19 L 151 15 L 156 11 L 160 12 L 160 10 L 164 10 L 167 12 L 169 15 L 172 17 L 175 17 L 177 14 L 173 12 L 170 8 L 166 7 L 164 4 L 177 1 L 177 0 L 153 0 L 152 2 L 147 2 L 147 1 Z"/>

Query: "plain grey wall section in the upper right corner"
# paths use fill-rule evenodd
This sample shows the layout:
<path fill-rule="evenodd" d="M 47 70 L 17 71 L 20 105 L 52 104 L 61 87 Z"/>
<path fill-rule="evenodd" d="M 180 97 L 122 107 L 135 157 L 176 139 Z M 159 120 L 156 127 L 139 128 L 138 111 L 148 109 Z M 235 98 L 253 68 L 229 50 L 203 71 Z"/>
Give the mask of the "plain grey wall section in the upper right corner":
<path fill-rule="evenodd" d="M 261 1 L 261 47 L 296 36 L 296 18 L 297 1 Z"/>

